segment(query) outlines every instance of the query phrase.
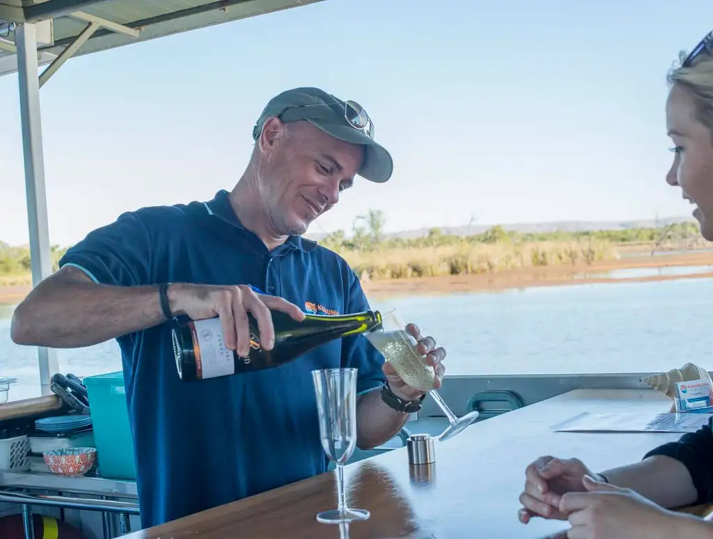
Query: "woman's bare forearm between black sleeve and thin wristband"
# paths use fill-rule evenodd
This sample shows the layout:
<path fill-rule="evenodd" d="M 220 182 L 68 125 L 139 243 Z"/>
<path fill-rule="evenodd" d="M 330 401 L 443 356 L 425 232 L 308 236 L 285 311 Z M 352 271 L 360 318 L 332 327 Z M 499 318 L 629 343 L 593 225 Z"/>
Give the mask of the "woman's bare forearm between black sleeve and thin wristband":
<path fill-rule="evenodd" d="M 603 471 L 612 485 L 631 488 L 645 498 L 667 508 L 691 505 L 698 498 L 688 469 L 667 456 L 652 456 L 643 461 Z"/>

